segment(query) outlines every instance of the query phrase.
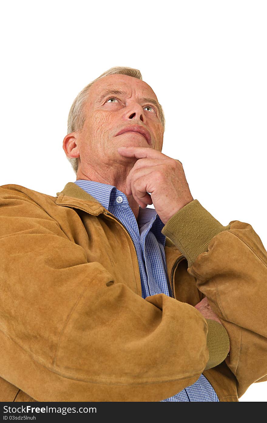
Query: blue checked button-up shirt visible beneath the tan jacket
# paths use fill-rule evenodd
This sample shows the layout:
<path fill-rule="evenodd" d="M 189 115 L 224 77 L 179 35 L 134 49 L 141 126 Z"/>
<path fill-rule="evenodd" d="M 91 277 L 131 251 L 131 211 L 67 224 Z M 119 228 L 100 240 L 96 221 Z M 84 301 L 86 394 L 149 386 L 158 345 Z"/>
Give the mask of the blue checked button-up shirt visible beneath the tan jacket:
<path fill-rule="evenodd" d="M 154 294 L 171 296 L 171 288 L 167 280 L 165 236 L 161 233 L 164 224 L 155 209 L 139 207 L 136 218 L 128 204 L 126 195 L 116 187 L 100 184 L 95 181 L 78 179 L 75 181 L 80 188 L 92 195 L 106 210 L 114 214 L 128 229 L 134 240 L 142 285 L 142 297 Z M 201 374 L 191 386 L 164 401 L 219 401 L 215 390 L 208 380 Z"/>

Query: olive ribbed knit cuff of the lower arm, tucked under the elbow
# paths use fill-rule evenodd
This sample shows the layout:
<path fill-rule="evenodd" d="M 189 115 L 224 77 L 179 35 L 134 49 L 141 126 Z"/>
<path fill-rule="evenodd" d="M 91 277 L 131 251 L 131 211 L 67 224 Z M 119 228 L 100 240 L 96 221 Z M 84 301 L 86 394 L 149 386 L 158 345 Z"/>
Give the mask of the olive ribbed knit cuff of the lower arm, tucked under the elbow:
<path fill-rule="evenodd" d="M 221 323 L 212 319 L 206 319 L 208 325 L 207 348 L 209 350 L 209 360 L 204 370 L 217 366 L 229 351 L 229 336 Z"/>

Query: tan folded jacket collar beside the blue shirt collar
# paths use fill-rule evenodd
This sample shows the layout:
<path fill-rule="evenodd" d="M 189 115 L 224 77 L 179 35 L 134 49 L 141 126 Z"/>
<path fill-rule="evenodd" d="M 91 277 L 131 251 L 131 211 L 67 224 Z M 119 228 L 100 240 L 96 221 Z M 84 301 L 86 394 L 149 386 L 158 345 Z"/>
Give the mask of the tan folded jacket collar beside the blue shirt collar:
<path fill-rule="evenodd" d="M 95 216 L 98 216 L 104 211 L 110 213 L 96 198 L 84 191 L 79 185 L 74 184 L 74 182 L 68 182 L 62 191 L 57 192 L 56 204 L 59 206 L 74 207 Z M 165 246 L 178 250 L 168 237 L 166 237 Z"/>

